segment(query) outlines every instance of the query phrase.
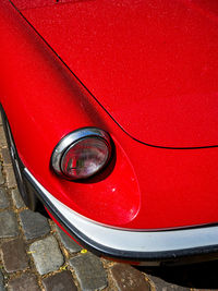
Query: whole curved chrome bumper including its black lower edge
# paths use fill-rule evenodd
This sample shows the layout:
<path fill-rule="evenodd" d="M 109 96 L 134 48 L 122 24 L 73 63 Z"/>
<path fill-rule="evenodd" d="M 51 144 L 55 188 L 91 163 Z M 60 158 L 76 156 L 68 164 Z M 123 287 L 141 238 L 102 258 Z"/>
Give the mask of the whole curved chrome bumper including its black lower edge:
<path fill-rule="evenodd" d="M 26 168 L 23 174 L 63 228 L 85 247 L 98 254 L 156 265 L 152 262 L 218 253 L 218 226 L 162 231 L 110 228 L 96 223 L 62 204 Z"/>

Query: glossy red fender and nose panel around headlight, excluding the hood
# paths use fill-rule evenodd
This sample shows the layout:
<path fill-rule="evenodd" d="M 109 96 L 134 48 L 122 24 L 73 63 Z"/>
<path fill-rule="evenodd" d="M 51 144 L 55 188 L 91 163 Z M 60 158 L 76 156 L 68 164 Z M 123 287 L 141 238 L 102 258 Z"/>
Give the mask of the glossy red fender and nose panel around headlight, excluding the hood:
<path fill-rule="evenodd" d="M 134 141 L 4 0 L 0 34 L 0 101 L 22 161 L 53 196 L 114 227 L 161 229 L 218 221 L 217 147 L 164 149 Z M 61 137 L 82 126 L 109 132 L 116 157 L 96 178 L 65 181 L 50 170 L 50 156 Z"/>

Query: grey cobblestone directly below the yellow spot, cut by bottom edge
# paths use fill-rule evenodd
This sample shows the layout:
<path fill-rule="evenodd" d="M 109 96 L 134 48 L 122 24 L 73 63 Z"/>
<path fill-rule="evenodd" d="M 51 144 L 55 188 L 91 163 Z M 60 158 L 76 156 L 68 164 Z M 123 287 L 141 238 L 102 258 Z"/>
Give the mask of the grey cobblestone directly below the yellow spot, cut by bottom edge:
<path fill-rule="evenodd" d="M 77 255 L 70 260 L 83 291 L 102 290 L 107 287 L 107 275 L 102 263 L 90 253 Z"/>

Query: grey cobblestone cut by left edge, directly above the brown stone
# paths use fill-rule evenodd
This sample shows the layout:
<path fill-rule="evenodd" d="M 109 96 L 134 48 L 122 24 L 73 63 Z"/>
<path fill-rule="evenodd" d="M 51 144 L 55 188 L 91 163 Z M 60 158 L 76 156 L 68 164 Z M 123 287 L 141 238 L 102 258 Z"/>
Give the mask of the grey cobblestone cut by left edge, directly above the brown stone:
<path fill-rule="evenodd" d="M 0 238 L 13 238 L 19 234 L 16 216 L 10 210 L 0 213 Z"/>

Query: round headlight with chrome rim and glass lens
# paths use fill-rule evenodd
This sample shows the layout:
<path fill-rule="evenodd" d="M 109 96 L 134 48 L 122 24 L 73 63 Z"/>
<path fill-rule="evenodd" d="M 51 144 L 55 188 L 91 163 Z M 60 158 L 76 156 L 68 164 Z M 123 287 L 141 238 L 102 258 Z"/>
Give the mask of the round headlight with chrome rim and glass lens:
<path fill-rule="evenodd" d="M 110 156 L 109 135 L 102 130 L 85 128 L 59 142 L 51 156 L 51 167 L 68 179 L 85 179 L 100 171 Z"/>

